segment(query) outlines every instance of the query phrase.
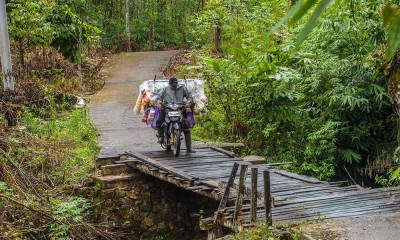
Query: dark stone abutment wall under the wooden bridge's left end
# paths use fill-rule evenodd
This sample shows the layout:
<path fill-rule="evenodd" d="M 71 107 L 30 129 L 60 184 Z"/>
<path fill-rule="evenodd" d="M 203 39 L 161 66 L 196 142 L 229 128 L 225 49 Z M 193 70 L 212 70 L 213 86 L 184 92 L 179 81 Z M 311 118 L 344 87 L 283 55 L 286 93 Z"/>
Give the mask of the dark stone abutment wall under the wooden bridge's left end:
<path fill-rule="evenodd" d="M 199 239 L 200 215 L 212 215 L 217 202 L 146 175 L 125 164 L 104 165 L 89 188 L 96 221 L 119 239 Z"/>

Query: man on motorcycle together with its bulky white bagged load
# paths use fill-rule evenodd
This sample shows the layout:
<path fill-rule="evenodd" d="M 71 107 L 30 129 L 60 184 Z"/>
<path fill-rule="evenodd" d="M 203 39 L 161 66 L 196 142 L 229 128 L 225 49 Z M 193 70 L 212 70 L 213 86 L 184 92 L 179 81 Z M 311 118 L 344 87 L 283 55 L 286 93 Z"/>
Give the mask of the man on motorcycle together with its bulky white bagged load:
<path fill-rule="evenodd" d="M 134 112 L 143 114 L 142 122 L 157 130 L 158 143 L 179 156 L 182 135 L 186 152 L 191 147 L 190 128 L 195 125 L 194 114 L 206 111 L 204 81 L 198 79 L 148 80 L 140 85 Z"/>

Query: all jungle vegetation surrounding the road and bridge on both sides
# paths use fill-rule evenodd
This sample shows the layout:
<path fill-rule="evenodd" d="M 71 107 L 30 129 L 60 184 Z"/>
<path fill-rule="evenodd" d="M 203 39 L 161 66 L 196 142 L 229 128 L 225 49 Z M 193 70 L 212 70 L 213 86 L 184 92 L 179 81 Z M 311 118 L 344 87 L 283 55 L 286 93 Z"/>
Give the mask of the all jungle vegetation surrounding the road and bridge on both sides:
<path fill-rule="evenodd" d="M 244 142 L 320 179 L 400 183 L 398 1 L 5 2 L 19 92 L 0 94 L 0 237 L 107 234 L 70 194 L 98 151 L 73 102 L 121 51 L 189 50 L 174 71 L 207 81 L 198 139 Z"/>

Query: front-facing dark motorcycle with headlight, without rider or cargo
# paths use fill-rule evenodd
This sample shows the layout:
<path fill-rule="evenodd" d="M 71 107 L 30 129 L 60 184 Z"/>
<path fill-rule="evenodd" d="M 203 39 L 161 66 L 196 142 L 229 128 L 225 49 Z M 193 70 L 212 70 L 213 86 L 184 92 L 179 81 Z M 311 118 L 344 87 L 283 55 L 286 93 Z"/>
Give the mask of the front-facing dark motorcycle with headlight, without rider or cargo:
<path fill-rule="evenodd" d="M 175 157 L 179 156 L 181 150 L 181 134 L 185 121 L 183 111 L 184 106 L 181 103 L 169 103 L 164 106 L 165 121 L 162 125 L 164 128 L 164 142 L 161 147 L 172 150 Z"/>

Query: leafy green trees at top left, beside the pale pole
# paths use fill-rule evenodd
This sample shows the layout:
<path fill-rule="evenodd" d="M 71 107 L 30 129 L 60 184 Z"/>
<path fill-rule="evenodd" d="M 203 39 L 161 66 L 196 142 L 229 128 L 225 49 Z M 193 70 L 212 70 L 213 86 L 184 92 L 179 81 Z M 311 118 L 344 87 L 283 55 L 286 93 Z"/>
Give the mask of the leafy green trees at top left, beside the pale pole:
<path fill-rule="evenodd" d="M 76 61 L 81 25 L 85 45 L 93 47 L 99 42 L 96 8 L 87 1 L 11 0 L 7 9 L 11 37 L 29 46 L 52 45 Z"/>

